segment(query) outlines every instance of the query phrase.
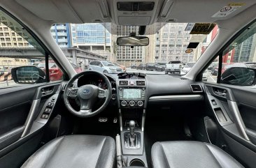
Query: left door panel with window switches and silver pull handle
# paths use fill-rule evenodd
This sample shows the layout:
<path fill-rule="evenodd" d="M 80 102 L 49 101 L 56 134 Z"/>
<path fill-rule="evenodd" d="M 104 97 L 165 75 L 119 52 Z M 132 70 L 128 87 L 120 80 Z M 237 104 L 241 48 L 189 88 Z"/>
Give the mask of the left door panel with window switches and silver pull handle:
<path fill-rule="evenodd" d="M 50 119 L 61 88 L 62 84 L 56 82 L 0 90 L 0 102 L 3 102 L 0 104 L 0 165 L 6 165 L 5 160 L 21 164 L 27 159 L 25 156 L 36 150 L 41 142 L 38 137 L 43 135 L 43 128 Z M 46 109 L 50 111 L 45 112 Z M 34 150 L 18 150 L 29 146 L 29 142 L 31 145 L 37 144 L 31 146 Z M 13 155 L 10 153 L 24 155 L 24 158 L 6 158 Z"/>

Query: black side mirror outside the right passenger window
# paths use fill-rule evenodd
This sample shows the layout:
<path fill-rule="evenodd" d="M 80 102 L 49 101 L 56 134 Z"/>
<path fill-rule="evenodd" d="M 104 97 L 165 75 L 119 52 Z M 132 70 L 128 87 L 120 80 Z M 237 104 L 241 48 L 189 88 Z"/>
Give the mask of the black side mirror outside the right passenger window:
<path fill-rule="evenodd" d="M 252 86 L 255 84 L 256 70 L 244 67 L 232 67 L 225 70 L 220 77 L 220 83 L 238 86 Z"/>

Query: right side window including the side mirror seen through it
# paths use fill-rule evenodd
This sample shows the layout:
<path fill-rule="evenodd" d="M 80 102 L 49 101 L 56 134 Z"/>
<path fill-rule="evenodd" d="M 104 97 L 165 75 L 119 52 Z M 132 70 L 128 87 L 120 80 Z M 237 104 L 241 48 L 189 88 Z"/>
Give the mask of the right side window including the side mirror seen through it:
<path fill-rule="evenodd" d="M 223 52 L 222 63 L 210 65 L 211 78 L 222 84 L 255 87 L 256 84 L 256 23 L 241 33 Z M 214 63 L 213 63 L 214 64 Z M 213 66 L 213 68 L 211 68 Z M 221 68 L 220 70 L 218 70 Z M 220 74 L 218 74 L 220 72 Z M 217 77 L 218 76 L 218 77 Z M 207 79 L 209 81 L 209 78 Z"/>

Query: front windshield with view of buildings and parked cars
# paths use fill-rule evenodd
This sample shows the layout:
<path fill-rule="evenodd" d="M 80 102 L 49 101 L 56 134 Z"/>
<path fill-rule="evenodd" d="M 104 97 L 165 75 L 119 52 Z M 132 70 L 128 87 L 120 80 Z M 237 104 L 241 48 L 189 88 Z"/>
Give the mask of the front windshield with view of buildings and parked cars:
<path fill-rule="evenodd" d="M 75 48 L 79 48 L 77 59 L 68 59 L 82 70 L 103 72 L 102 67 L 90 65 L 91 61 L 101 61 L 104 66 L 126 67 L 123 72 L 172 75 L 180 75 L 185 67 L 191 68 L 194 65 L 191 62 L 199 59 L 218 33 L 218 26 L 211 23 L 166 23 L 160 28 L 155 32 L 145 33 L 149 39 L 148 46 L 134 47 L 118 46 L 117 38 L 130 36 L 131 33 L 138 36 L 139 26 L 111 23 L 55 24 L 51 33 L 62 50 L 69 48 L 77 52 Z M 201 32 L 201 28 L 208 32 Z M 115 31 L 109 31 L 111 29 Z M 184 66 L 186 63 L 188 64 Z"/>

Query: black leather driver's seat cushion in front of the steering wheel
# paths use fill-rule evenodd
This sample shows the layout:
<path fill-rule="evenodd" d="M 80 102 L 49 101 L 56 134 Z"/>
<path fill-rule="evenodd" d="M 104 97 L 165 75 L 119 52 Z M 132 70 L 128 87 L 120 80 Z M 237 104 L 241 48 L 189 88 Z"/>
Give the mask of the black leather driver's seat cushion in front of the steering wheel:
<path fill-rule="evenodd" d="M 69 135 L 45 144 L 22 168 L 112 168 L 115 140 L 97 135 Z"/>

